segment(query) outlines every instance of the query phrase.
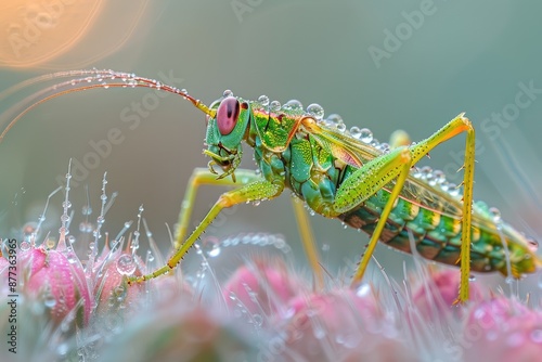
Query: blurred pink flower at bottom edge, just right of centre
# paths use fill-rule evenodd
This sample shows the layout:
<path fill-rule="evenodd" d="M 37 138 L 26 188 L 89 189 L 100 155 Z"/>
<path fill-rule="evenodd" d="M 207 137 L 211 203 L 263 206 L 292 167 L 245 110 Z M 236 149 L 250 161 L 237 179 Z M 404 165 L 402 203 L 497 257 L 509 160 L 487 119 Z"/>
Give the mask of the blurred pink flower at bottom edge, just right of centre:
<path fill-rule="evenodd" d="M 292 300 L 289 316 L 278 331 L 284 348 L 276 360 L 415 361 L 393 319 L 367 290 L 335 289 Z M 276 350 L 271 347 L 268 354 Z"/>

